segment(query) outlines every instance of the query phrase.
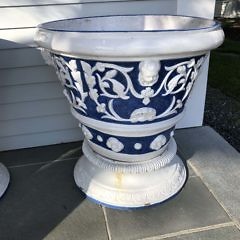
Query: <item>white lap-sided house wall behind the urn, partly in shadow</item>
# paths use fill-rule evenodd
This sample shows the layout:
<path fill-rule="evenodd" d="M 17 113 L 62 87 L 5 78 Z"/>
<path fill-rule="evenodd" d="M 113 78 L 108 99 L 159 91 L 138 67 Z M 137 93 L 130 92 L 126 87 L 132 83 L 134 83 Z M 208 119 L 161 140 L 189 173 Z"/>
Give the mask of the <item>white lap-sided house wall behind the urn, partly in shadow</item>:
<path fill-rule="evenodd" d="M 41 22 L 104 14 L 177 13 L 177 0 L 0 1 L 0 150 L 82 138 L 52 68 L 35 49 Z"/>

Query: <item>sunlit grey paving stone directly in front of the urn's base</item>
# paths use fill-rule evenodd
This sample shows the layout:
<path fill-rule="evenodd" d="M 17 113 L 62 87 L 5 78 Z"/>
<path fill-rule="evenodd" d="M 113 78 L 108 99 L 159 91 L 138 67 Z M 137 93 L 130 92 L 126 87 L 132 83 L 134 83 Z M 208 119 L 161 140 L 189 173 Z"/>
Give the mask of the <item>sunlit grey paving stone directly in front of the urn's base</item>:
<path fill-rule="evenodd" d="M 198 177 L 189 178 L 183 191 L 162 205 L 135 211 L 106 209 L 106 213 L 113 240 L 141 239 L 230 221 Z"/>

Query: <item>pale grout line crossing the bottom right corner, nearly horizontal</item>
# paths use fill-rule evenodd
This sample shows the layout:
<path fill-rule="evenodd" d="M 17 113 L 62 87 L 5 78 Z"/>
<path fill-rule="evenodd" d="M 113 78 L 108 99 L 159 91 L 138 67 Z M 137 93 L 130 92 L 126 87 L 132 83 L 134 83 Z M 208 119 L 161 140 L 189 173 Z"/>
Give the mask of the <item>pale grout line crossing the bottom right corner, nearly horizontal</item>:
<path fill-rule="evenodd" d="M 177 236 L 181 236 L 181 235 L 204 232 L 204 231 L 208 231 L 208 230 L 214 230 L 214 229 L 218 229 L 218 228 L 231 227 L 231 226 L 235 226 L 234 222 L 214 224 L 214 225 L 200 227 L 200 228 L 191 228 L 191 229 L 182 230 L 182 231 L 178 231 L 178 232 L 174 232 L 174 233 L 167 233 L 167 234 L 160 235 L 160 236 L 141 238 L 139 240 L 161 240 L 161 239 L 167 239 L 170 237 L 177 237 Z"/>

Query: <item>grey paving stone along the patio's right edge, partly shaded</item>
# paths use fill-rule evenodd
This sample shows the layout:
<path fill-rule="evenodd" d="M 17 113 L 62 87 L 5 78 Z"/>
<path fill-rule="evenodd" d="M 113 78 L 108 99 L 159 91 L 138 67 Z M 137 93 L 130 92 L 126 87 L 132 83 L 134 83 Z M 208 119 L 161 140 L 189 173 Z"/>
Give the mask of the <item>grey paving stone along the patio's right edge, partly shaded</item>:
<path fill-rule="evenodd" d="M 240 221 L 240 153 L 210 127 L 178 130 L 178 148 L 227 209 Z"/>

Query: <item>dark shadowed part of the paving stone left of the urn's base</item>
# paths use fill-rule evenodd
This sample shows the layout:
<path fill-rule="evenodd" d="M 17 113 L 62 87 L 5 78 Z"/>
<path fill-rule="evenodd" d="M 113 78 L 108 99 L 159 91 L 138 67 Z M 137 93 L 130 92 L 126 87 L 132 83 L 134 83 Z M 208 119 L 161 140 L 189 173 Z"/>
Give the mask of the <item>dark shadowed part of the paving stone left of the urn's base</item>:
<path fill-rule="evenodd" d="M 9 169 L 11 184 L 0 202 L 0 239 L 43 239 L 83 202 L 73 179 L 75 162 Z"/>

